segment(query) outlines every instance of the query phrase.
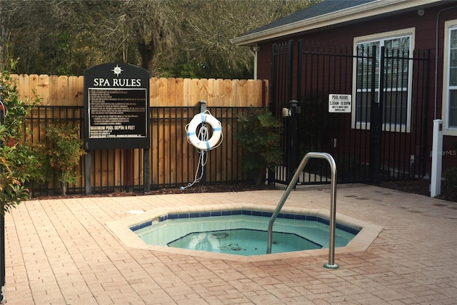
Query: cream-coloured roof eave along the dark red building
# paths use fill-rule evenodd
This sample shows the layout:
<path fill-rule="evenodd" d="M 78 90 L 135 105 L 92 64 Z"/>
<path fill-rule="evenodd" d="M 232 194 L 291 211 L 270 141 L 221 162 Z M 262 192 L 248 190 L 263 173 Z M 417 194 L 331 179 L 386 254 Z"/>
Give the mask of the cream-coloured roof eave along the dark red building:
<path fill-rule="evenodd" d="M 430 5 L 443 0 L 428 0 Z M 274 38 L 288 36 L 294 33 L 301 33 L 313 29 L 320 29 L 325 26 L 343 24 L 348 21 L 368 18 L 381 14 L 401 11 L 403 9 L 412 9 L 416 6 L 423 6 L 421 0 L 378 0 L 361 6 L 353 6 L 349 9 L 343 9 L 330 14 L 324 14 L 311 19 L 297 21 L 284 26 L 278 26 L 273 29 L 251 33 L 245 36 L 239 36 L 231 39 L 231 43 L 236 46 L 255 46 L 261 41 L 268 41 Z"/>

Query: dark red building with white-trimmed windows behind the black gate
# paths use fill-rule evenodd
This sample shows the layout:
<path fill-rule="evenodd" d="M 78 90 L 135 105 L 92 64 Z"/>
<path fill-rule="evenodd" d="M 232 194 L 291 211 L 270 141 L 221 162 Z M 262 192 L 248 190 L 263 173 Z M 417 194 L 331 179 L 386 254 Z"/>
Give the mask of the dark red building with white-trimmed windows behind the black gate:
<path fill-rule="evenodd" d="M 443 171 L 457 165 L 456 1 L 323 0 L 232 43 L 255 54 L 274 113 L 298 100 L 298 155 L 331 153 L 341 182 L 428 177 L 436 119 Z"/>

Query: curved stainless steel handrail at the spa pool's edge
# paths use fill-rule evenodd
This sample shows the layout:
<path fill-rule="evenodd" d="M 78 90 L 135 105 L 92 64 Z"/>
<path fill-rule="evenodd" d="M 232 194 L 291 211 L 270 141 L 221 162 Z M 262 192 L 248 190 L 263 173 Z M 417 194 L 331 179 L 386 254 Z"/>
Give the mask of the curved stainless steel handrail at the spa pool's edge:
<path fill-rule="evenodd" d="M 278 217 L 281 208 L 287 200 L 291 190 L 295 187 L 298 177 L 306 166 L 309 159 L 326 159 L 331 169 L 331 195 L 330 195 L 330 227 L 329 227 L 329 239 L 328 239 L 328 264 L 324 264 L 323 267 L 328 269 L 337 269 L 339 266 L 335 264 L 335 227 L 336 227 L 336 163 L 333 157 L 328 153 L 307 153 L 298 165 L 295 174 L 293 174 L 291 182 L 288 183 L 286 191 L 278 202 L 276 210 L 271 215 L 270 221 L 268 222 L 268 244 L 266 248 L 266 254 L 271 254 L 271 244 L 273 239 L 273 223 Z"/>

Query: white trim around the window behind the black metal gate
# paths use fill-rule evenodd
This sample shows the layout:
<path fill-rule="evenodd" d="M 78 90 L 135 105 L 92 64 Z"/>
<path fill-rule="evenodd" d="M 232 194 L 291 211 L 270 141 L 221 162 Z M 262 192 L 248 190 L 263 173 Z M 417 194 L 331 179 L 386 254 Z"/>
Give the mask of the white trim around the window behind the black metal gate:
<path fill-rule="evenodd" d="M 407 28 L 407 29 L 399 29 L 396 31 L 388 31 L 388 32 L 383 32 L 383 33 L 375 33 L 375 34 L 370 34 L 370 35 L 365 35 L 365 36 L 358 36 L 353 38 L 353 55 L 357 56 L 357 44 L 358 43 L 363 43 L 363 42 L 368 42 L 368 41 L 375 41 L 375 40 L 381 40 L 381 39 L 386 39 L 386 38 L 395 38 L 398 36 L 411 36 L 411 55 L 414 51 L 414 43 L 416 41 L 416 28 Z M 408 75 L 408 88 L 412 88 L 413 86 L 413 66 L 410 61 L 408 63 L 411 65 L 409 67 L 409 75 Z M 352 111 L 351 111 L 351 126 L 352 128 L 356 129 L 364 129 L 364 130 L 369 130 L 370 129 L 370 123 L 361 123 L 361 122 L 356 122 L 356 94 L 357 94 L 357 82 L 356 82 L 356 77 L 357 77 L 357 63 L 356 61 L 353 62 L 353 80 L 352 80 L 352 96 L 354 102 L 352 103 Z M 406 114 L 406 125 L 401 124 L 401 125 L 386 125 L 383 124 L 383 131 L 393 131 L 393 132 L 401 132 L 401 133 L 411 133 L 411 92 L 408 91 L 408 105 L 407 105 L 407 111 L 408 113 Z"/>

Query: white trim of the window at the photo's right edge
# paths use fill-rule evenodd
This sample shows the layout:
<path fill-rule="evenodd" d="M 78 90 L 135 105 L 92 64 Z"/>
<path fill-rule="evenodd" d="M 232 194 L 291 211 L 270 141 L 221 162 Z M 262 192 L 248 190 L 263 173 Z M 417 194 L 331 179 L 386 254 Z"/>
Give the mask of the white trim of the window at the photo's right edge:
<path fill-rule="evenodd" d="M 449 100 L 449 56 L 451 56 L 451 48 L 449 46 L 451 40 L 451 29 L 457 30 L 457 19 L 448 20 L 444 23 L 444 47 L 443 47 L 443 100 L 441 107 L 441 118 L 444 120 L 443 135 L 457 136 L 457 128 L 449 128 L 449 111 L 448 111 L 448 100 Z"/>

